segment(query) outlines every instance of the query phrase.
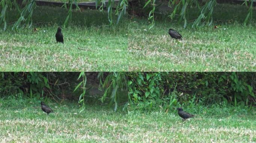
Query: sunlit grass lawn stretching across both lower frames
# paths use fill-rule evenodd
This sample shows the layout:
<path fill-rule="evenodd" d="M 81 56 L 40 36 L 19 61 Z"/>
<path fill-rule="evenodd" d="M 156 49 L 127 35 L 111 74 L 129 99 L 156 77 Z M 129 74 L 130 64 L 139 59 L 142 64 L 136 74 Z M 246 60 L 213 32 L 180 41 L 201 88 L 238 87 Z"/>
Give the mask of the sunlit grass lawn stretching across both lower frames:
<path fill-rule="evenodd" d="M 183 122 L 176 111 L 125 114 L 88 105 L 79 114 L 76 104 L 49 104 L 55 113 L 47 118 L 39 106 L 2 106 L 0 142 L 256 142 L 253 115 L 198 115 Z"/>

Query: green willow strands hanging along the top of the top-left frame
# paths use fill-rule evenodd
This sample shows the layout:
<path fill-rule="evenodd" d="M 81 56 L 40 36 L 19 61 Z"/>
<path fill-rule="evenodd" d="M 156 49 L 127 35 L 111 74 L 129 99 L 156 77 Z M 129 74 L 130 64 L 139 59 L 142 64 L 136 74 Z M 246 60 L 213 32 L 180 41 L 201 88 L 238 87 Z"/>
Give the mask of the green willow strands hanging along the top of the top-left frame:
<path fill-rule="evenodd" d="M 67 15 L 63 15 L 61 13 L 61 16 L 59 16 L 61 20 L 61 25 L 63 28 L 67 25 L 69 21 L 75 21 L 75 18 L 72 18 L 72 5 L 74 4 L 76 7 L 76 10 L 80 11 L 80 8 L 77 4 L 77 0 L 63 0 L 64 4 L 62 7 L 65 9 L 68 9 L 66 11 Z M 103 0 L 96 0 L 96 8 L 98 8 L 100 11 L 103 11 L 103 7 L 105 6 Z M 99 5 L 101 4 L 101 5 Z M 122 16 L 125 15 L 126 7 L 128 5 L 128 0 L 120 0 L 118 4 L 115 4 L 114 0 L 109 0 L 107 4 L 107 13 L 108 13 L 108 20 L 110 22 L 110 25 L 113 24 L 113 13 L 117 16 L 116 23 L 119 23 L 119 20 L 122 18 Z M 3 29 L 4 31 L 7 28 L 7 23 L 9 21 L 8 11 L 10 10 L 17 10 L 17 16 L 15 16 L 15 23 L 12 26 L 12 30 L 19 28 L 19 27 L 29 27 L 32 26 L 32 15 L 34 12 L 34 9 L 36 8 L 36 1 L 35 0 L 1 0 L 0 6 L 2 7 L 1 14 L 0 14 L 0 24 L 3 23 Z M 116 7 L 116 10 L 113 10 L 113 7 Z M 38 15 L 37 15 L 38 16 Z M 38 16 L 39 17 L 39 16 Z M 64 19 L 63 19 L 64 18 Z M 101 21 L 103 19 L 100 19 Z"/>

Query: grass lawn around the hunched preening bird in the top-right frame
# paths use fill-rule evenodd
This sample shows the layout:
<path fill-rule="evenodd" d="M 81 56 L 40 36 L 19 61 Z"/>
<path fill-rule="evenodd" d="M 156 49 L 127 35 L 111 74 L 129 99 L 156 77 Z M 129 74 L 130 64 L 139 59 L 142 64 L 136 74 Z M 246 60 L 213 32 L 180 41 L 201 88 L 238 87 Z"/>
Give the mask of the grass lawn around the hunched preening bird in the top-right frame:
<path fill-rule="evenodd" d="M 197 13 L 190 13 L 195 19 Z M 216 30 L 214 26 L 184 29 L 170 18 L 159 18 L 147 30 L 147 20 L 134 18 L 128 28 L 129 52 L 135 58 L 129 71 L 256 71 L 256 23 L 242 26 L 246 13 L 244 6 L 217 5 Z M 183 41 L 172 39 L 169 28 L 176 29 Z"/>

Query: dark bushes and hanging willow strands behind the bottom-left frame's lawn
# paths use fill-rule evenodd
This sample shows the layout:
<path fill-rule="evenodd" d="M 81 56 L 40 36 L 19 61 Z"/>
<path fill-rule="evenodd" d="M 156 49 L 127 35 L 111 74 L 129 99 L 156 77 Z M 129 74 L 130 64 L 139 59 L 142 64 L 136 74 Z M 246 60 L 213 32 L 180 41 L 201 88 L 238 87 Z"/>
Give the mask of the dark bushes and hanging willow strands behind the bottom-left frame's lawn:
<path fill-rule="evenodd" d="M 55 102 L 74 99 L 83 105 L 81 111 L 85 109 L 85 102 L 90 98 L 88 91 L 92 86 L 100 87 L 104 91 L 94 98 L 97 98 L 97 101 L 98 99 L 101 102 L 106 101 L 110 106 L 114 105 L 115 111 L 118 104 L 124 104 L 128 101 L 127 73 L 125 72 L 81 72 L 80 74 L 78 72 L 0 73 L 1 98 L 10 97 L 14 100 L 16 98 L 21 99 L 21 97 L 28 97 L 31 100 L 43 98 L 44 101 L 53 99 Z M 92 92 L 95 93 L 95 91 Z M 24 100 L 21 100 L 22 102 Z"/>

